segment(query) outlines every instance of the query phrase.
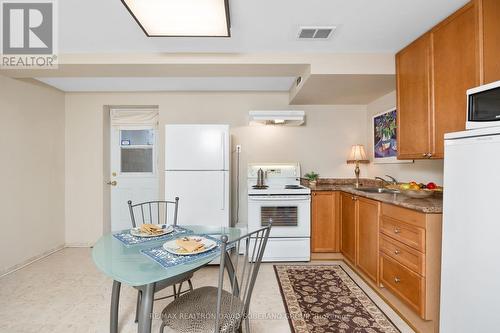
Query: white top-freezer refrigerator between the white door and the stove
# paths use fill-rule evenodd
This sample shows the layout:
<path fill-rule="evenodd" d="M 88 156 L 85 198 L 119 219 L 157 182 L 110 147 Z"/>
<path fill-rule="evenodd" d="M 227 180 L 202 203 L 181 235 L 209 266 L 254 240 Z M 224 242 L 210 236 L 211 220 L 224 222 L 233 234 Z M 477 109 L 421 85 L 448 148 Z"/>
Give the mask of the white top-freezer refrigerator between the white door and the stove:
<path fill-rule="evenodd" d="M 230 225 L 229 125 L 165 126 L 165 199 L 178 223 Z"/>

